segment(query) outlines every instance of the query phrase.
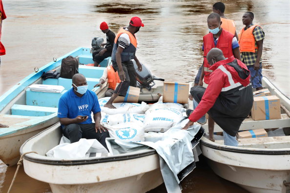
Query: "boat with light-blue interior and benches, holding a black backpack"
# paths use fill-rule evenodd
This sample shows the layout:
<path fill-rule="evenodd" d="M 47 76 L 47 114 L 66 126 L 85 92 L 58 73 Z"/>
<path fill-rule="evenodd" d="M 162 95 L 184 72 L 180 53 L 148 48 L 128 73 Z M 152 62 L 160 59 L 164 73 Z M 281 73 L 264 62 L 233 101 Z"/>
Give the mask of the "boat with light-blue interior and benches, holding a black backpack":
<path fill-rule="evenodd" d="M 0 96 L 0 123 L 8 128 L 0 128 L 0 159 L 7 165 L 15 165 L 19 158 L 19 148 L 30 137 L 40 133 L 59 121 L 57 117 L 58 101 L 64 92 L 71 88 L 72 80 L 67 78 L 41 79 L 43 72 L 49 70 L 60 71 L 62 58 L 76 57 L 81 64 L 93 63 L 89 48 L 76 50 L 57 58 L 36 72 L 22 79 L 17 85 Z M 99 82 L 103 71 L 110 64 L 110 57 L 101 62 L 102 67 L 79 65 L 88 82 L 88 88 L 96 94 L 102 94 L 106 89 L 94 85 Z M 32 84 L 59 85 L 64 90 L 61 93 L 34 92 L 29 86 Z"/>

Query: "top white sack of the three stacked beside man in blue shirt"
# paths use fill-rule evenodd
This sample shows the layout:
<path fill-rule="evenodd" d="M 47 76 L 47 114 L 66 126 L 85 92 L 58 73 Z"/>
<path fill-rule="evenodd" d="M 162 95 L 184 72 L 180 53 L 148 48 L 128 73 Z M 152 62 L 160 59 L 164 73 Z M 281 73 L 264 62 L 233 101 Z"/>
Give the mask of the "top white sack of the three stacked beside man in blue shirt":
<path fill-rule="evenodd" d="M 131 102 L 113 103 L 113 105 L 117 109 L 109 109 L 107 107 L 104 107 L 104 105 L 107 103 L 109 99 L 110 97 L 104 97 L 99 99 L 101 110 L 107 115 L 127 114 L 127 113 L 145 114 L 146 110 L 149 109 L 149 106 L 145 102 L 142 102 L 141 104 Z"/>

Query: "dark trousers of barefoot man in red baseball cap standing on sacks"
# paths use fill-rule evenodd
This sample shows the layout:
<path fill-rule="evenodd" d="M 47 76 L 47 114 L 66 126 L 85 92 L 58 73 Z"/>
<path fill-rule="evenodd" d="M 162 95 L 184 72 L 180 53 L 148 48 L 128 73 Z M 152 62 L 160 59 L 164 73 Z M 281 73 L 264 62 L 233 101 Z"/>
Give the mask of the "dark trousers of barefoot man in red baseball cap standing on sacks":
<path fill-rule="evenodd" d="M 113 68 L 117 70 L 119 74 L 117 62 L 112 60 L 112 64 Z M 129 86 L 137 87 L 137 79 L 136 79 L 136 70 L 131 60 L 122 62 L 122 68 L 126 78 L 124 82 L 119 83 L 114 93 L 118 94 L 119 96 L 125 97 Z"/>

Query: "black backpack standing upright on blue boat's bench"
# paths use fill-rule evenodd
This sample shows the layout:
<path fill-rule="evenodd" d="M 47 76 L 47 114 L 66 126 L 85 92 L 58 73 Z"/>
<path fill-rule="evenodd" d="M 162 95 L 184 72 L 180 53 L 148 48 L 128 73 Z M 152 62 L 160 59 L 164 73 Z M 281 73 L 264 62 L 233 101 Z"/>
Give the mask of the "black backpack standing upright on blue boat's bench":
<path fill-rule="evenodd" d="M 61 77 L 72 78 L 75 74 L 79 73 L 78 60 L 72 56 L 62 59 Z"/>

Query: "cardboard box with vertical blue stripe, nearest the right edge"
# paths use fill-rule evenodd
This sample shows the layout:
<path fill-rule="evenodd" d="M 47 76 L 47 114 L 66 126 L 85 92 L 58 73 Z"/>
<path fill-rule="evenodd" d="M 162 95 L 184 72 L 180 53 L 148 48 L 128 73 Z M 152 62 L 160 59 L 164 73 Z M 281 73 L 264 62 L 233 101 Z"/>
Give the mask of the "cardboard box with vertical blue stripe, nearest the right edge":
<path fill-rule="evenodd" d="M 281 118 L 280 99 L 276 96 L 254 97 L 251 116 L 253 120 Z"/>

